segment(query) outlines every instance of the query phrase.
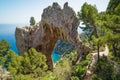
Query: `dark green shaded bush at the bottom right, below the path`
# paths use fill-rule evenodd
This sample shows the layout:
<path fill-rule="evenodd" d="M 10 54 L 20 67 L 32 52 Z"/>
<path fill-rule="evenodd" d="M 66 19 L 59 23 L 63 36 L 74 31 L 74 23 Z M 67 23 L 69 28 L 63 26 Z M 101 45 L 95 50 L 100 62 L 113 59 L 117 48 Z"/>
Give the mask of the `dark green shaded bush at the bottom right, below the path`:
<path fill-rule="evenodd" d="M 92 78 L 97 80 L 113 80 L 113 72 L 114 66 L 107 60 L 107 57 L 103 56 L 96 64 L 96 70 Z"/>

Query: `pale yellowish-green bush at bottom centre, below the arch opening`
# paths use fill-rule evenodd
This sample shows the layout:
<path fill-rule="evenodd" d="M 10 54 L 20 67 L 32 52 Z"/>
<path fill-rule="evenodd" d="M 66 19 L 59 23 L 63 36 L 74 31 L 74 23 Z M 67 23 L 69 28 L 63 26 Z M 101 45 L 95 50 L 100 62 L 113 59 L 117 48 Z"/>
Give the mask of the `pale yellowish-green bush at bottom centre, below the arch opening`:
<path fill-rule="evenodd" d="M 61 60 L 56 63 L 53 69 L 53 74 L 56 76 L 56 80 L 79 80 L 77 76 L 73 76 L 73 65 L 76 64 L 77 51 L 72 51 L 69 54 L 65 54 Z"/>

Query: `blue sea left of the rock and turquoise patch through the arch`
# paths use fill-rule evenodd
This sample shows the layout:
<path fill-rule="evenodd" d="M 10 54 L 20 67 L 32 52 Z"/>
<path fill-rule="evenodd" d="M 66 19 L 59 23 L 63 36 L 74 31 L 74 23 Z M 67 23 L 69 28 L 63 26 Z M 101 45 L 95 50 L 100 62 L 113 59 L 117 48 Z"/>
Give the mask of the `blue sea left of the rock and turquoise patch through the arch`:
<path fill-rule="evenodd" d="M 0 24 L 0 40 L 5 39 L 7 40 L 11 47 L 10 49 L 18 54 L 18 49 L 16 47 L 16 40 L 15 40 L 15 29 L 16 26 L 25 26 L 26 24 Z M 53 51 L 52 59 L 53 62 L 56 63 L 60 59 L 60 55 Z"/>

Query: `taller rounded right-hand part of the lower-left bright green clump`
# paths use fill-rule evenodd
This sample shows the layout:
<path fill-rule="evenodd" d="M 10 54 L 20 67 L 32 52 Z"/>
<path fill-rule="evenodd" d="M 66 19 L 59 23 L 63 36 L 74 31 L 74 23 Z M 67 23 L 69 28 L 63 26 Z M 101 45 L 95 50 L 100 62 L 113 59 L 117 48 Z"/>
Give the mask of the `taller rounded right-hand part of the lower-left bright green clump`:
<path fill-rule="evenodd" d="M 34 48 L 31 48 L 28 52 L 25 52 L 23 58 L 23 74 L 34 73 L 35 76 L 42 76 L 48 69 L 46 64 L 46 56 L 40 52 L 37 52 Z"/>

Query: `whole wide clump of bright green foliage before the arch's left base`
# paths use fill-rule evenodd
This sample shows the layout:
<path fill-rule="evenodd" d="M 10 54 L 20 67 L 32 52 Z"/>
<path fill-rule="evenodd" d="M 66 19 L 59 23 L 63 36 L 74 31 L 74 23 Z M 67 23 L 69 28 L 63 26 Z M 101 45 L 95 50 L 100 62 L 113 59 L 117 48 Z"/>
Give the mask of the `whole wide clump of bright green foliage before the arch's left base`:
<path fill-rule="evenodd" d="M 29 49 L 23 56 L 13 55 L 12 62 L 8 67 L 12 75 L 11 78 L 17 75 L 19 75 L 17 78 L 22 77 L 22 75 L 31 78 L 44 77 L 47 69 L 46 56 L 34 48 Z"/>

